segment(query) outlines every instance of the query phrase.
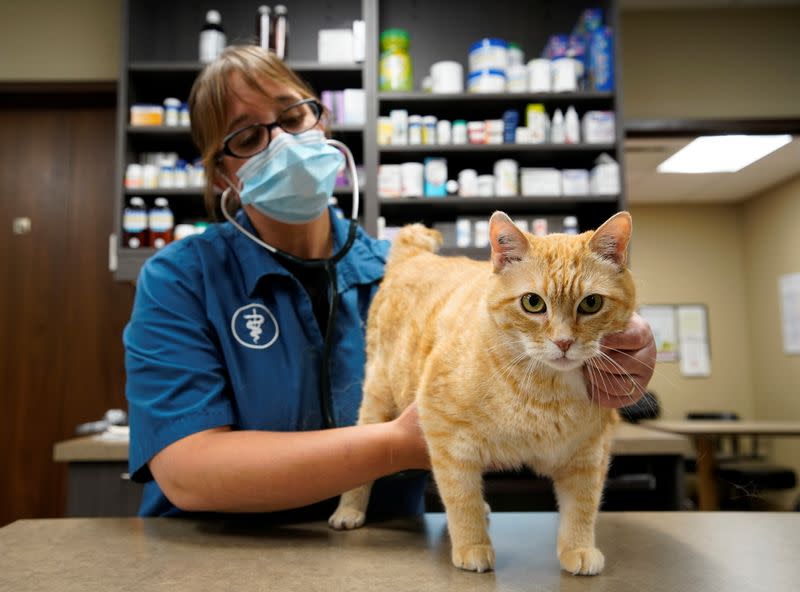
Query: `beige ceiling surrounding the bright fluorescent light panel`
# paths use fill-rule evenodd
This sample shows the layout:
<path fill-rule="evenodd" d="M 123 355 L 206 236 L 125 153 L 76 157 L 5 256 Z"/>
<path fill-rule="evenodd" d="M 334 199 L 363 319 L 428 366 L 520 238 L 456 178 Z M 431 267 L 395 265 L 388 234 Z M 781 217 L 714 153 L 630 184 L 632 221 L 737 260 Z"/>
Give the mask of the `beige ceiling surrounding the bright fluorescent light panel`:
<path fill-rule="evenodd" d="M 736 173 L 663 174 L 656 167 L 693 138 L 625 140 L 628 201 L 720 203 L 743 201 L 800 175 L 800 137 Z"/>

